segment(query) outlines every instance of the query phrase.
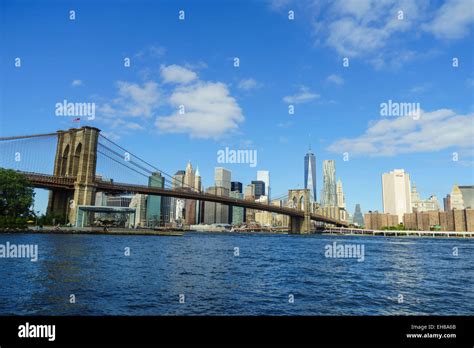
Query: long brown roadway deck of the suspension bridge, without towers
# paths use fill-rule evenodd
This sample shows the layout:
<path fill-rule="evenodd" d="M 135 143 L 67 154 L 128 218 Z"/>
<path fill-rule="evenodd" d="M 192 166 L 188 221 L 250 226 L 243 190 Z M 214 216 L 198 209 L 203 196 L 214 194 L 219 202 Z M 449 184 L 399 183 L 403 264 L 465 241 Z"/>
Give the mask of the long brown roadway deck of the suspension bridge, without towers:
<path fill-rule="evenodd" d="M 74 190 L 74 182 L 76 179 L 74 177 L 58 177 L 54 175 L 47 174 L 38 174 L 38 173 L 27 173 L 22 172 L 28 181 L 34 187 L 44 188 L 44 189 L 64 189 L 64 190 Z M 109 193 L 142 193 L 148 195 L 157 195 L 157 196 L 167 196 L 183 199 L 194 199 L 199 201 L 208 201 L 215 203 L 222 203 L 225 205 L 243 207 L 248 209 L 263 210 L 269 211 L 272 213 L 283 214 L 294 217 L 304 217 L 303 210 L 278 207 L 270 204 L 257 203 L 253 201 L 248 201 L 244 199 L 225 197 L 225 196 L 216 196 L 209 193 L 200 193 L 193 192 L 186 189 L 165 189 L 157 187 L 149 187 L 143 185 L 134 185 L 134 184 L 125 184 L 125 183 L 116 183 L 110 181 L 101 181 L 97 180 L 94 185 L 98 191 L 109 192 Z M 343 221 L 338 221 L 320 214 L 311 214 L 311 220 L 326 222 L 334 224 L 336 226 L 347 226 Z"/>

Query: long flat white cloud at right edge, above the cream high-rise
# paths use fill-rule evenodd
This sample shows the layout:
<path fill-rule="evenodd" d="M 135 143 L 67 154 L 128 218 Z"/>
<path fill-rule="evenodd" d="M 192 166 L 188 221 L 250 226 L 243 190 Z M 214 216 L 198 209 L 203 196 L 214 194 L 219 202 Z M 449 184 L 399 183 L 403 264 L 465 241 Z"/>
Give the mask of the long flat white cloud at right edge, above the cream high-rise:
<path fill-rule="evenodd" d="M 452 110 L 440 109 L 422 111 L 418 120 L 397 117 L 372 122 L 363 135 L 340 139 L 327 150 L 375 157 L 472 147 L 474 113 L 458 115 Z"/>

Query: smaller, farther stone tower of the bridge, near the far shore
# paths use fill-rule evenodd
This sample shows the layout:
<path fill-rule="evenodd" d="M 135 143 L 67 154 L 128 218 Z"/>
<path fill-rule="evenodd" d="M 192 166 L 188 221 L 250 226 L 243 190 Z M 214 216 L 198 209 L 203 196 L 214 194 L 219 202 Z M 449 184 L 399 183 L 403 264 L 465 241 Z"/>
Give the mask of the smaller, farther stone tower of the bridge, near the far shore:
<path fill-rule="evenodd" d="M 304 217 L 290 216 L 288 232 L 291 234 L 311 233 L 311 203 L 309 189 L 288 190 L 288 205 L 304 211 Z"/>

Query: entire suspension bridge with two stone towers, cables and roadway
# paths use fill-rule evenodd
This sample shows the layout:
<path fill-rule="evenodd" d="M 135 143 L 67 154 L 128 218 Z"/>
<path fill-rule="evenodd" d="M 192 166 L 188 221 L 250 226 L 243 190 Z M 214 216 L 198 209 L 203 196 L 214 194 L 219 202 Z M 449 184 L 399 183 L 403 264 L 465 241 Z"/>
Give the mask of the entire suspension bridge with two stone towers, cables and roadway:
<path fill-rule="evenodd" d="M 283 214 L 289 216 L 288 230 L 296 234 L 310 233 L 311 220 L 347 226 L 345 221 L 311 212 L 307 189 L 288 190 L 291 206 L 280 207 L 186 187 L 173 188 L 169 183 L 164 188 L 142 184 L 144 178 L 156 172 L 164 177 L 172 176 L 94 127 L 0 137 L 0 158 L 0 167 L 21 172 L 33 187 L 49 190 L 48 212 L 67 216 L 72 224 L 76 222 L 78 207 L 94 205 L 96 193 L 105 192 L 192 199 Z"/>

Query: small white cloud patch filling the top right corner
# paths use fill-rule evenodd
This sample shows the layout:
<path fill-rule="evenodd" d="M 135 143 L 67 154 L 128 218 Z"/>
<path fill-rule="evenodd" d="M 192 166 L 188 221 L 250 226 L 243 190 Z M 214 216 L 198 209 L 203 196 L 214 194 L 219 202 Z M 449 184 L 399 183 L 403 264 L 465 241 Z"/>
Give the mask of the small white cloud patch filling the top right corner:
<path fill-rule="evenodd" d="M 469 33 L 474 23 L 474 3 L 472 0 L 448 0 L 423 29 L 441 39 L 459 39 Z"/>

